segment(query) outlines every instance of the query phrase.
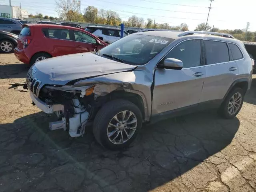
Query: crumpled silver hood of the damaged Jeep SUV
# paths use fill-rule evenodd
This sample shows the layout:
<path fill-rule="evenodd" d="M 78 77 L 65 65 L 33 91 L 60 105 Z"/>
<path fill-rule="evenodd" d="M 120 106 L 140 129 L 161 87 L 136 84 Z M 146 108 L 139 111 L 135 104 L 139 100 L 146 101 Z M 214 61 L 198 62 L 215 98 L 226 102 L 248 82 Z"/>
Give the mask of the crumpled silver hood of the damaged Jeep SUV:
<path fill-rule="evenodd" d="M 30 72 L 43 84 L 64 85 L 72 80 L 129 71 L 136 67 L 89 52 L 36 62 Z"/>

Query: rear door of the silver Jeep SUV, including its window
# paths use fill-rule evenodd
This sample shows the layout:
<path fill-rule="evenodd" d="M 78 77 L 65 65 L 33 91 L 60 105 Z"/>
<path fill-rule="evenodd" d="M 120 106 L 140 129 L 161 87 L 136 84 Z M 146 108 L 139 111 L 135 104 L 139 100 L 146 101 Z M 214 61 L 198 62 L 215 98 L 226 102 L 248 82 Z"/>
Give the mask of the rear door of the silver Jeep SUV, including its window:
<path fill-rule="evenodd" d="M 204 40 L 206 53 L 206 78 L 200 102 L 221 100 L 239 74 L 232 59 L 229 44 L 222 41 Z"/>

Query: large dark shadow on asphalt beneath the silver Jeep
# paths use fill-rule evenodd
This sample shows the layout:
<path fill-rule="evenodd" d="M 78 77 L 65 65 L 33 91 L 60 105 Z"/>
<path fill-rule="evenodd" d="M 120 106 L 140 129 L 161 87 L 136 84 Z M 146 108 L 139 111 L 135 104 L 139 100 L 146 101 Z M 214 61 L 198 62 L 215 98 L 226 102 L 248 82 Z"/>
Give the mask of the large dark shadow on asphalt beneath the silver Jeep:
<path fill-rule="evenodd" d="M 144 126 L 129 149 L 109 151 L 91 132 L 70 138 L 63 130 L 48 130 L 55 120 L 39 112 L 0 125 L 1 192 L 145 192 L 225 148 L 240 126 L 237 118 L 195 113 Z"/>

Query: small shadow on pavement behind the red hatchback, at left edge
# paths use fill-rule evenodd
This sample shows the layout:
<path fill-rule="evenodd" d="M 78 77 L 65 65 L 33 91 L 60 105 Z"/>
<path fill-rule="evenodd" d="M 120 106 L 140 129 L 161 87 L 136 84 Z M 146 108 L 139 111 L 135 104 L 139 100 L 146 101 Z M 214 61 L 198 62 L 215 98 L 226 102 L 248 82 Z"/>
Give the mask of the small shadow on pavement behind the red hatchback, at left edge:
<path fill-rule="evenodd" d="M 28 69 L 24 63 L 0 65 L 0 79 L 26 78 Z"/>

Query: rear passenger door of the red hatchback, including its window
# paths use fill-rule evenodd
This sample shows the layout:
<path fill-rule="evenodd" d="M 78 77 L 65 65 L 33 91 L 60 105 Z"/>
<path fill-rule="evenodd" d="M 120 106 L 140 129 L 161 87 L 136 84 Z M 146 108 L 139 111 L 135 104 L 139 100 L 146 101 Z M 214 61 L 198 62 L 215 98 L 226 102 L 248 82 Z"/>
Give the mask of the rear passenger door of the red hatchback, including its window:
<path fill-rule="evenodd" d="M 71 32 L 68 29 L 45 28 L 43 29 L 46 38 L 46 45 L 52 56 L 61 56 L 76 53 L 75 43 L 71 39 Z"/>

